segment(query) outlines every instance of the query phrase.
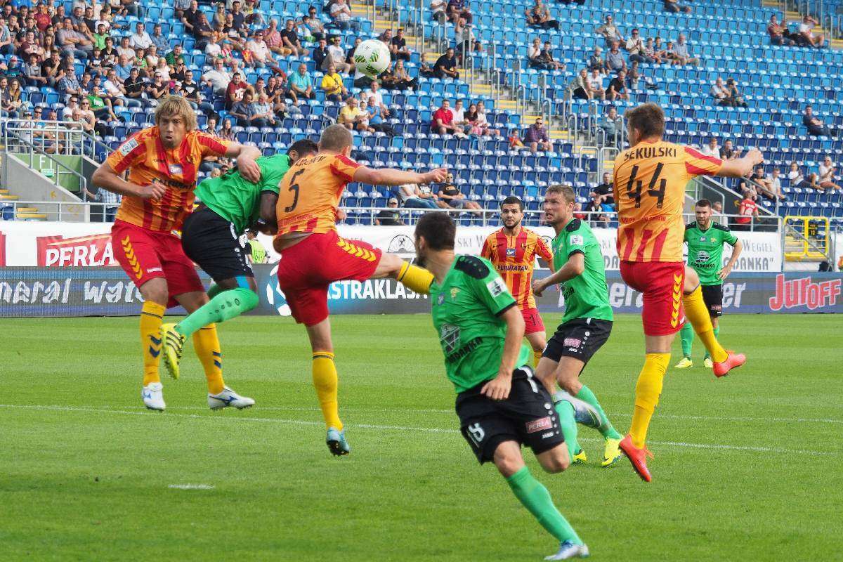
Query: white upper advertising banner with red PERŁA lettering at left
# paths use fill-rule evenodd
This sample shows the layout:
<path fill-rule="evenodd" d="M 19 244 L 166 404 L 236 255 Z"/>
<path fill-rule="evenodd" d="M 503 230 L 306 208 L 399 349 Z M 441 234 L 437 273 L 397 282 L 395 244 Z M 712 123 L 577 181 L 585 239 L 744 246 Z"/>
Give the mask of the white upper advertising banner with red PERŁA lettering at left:
<path fill-rule="evenodd" d="M 0 265 L 42 267 L 100 267 L 117 265 L 111 249 L 109 223 L 103 222 L 0 222 Z M 413 227 L 370 227 L 339 225 L 341 236 L 363 240 L 375 248 L 411 258 Z M 480 254 L 483 241 L 495 227 L 462 227 L 457 231 L 458 254 Z M 547 242 L 553 238 L 550 227 L 534 228 Z M 603 250 L 606 269 L 620 269 L 615 248 L 614 228 L 595 228 L 594 235 Z M 738 233 L 744 251 L 734 271 L 781 271 L 781 240 L 778 233 Z M 271 239 L 261 235 L 261 242 L 275 262 L 279 256 L 272 251 Z M 732 254 L 727 246 L 723 263 Z"/>

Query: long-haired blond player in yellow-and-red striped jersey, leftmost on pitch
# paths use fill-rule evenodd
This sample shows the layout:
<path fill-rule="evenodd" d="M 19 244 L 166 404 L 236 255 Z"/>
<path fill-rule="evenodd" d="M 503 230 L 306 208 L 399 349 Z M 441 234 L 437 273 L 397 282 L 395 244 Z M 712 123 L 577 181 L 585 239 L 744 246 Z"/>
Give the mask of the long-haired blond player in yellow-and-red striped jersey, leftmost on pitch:
<path fill-rule="evenodd" d="M 155 109 L 155 126 L 130 136 L 91 178 L 94 185 L 123 195 L 111 228 L 111 247 L 144 301 L 141 396 L 149 409 L 166 407 L 158 374 L 164 312 L 176 303 L 193 312 L 208 301 L 193 262 L 172 233 L 181 228 L 193 208 L 196 172 L 206 156 L 237 157 L 246 178 L 260 179 L 255 163 L 260 150 L 197 131 L 190 104 L 179 96 L 167 96 Z M 128 180 L 120 176 L 126 170 Z M 193 348 L 205 369 L 211 408 L 254 404 L 225 386 L 223 354 L 213 324 L 193 335 Z"/>

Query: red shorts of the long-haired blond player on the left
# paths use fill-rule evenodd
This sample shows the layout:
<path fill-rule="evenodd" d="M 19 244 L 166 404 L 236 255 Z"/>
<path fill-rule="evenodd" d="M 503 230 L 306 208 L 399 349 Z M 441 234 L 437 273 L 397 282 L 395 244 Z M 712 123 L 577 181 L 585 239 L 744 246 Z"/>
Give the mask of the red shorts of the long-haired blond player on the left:
<path fill-rule="evenodd" d="M 157 233 L 129 222 L 115 221 L 111 227 L 111 249 L 126 275 L 142 286 L 150 279 L 164 277 L 169 292 L 168 307 L 175 307 L 175 296 L 205 291 L 196 266 L 181 249 L 181 240 L 172 233 Z"/>

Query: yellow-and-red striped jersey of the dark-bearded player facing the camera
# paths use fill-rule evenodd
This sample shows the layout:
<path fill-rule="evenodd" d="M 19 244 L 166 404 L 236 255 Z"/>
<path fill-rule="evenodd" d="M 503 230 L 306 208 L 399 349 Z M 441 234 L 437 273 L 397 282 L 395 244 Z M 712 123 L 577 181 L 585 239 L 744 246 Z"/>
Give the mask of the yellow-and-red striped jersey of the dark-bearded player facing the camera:
<path fill-rule="evenodd" d="M 548 263 L 553 262 L 553 252 L 538 234 L 521 227 L 514 236 L 508 236 L 503 228 L 486 237 L 481 256 L 491 261 L 513 293 L 518 308 L 535 308 L 533 297 L 533 268 L 539 256 Z"/>

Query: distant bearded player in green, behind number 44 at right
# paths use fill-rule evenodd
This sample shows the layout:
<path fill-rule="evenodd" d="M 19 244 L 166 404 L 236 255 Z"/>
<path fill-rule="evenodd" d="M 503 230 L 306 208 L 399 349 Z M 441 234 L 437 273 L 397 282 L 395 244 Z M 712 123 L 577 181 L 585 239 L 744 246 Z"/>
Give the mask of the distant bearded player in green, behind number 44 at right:
<path fill-rule="evenodd" d="M 685 225 L 685 244 L 688 244 L 688 265 L 700 276 L 702 286 L 702 300 L 706 302 L 708 314 L 711 316 L 711 325 L 714 327 L 714 336 L 720 334 L 720 323 L 718 318 L 723 313 L 723 280 L 732 272 L 735 262 L 738 261 L 744 245 L 741 244 L 728 227 L 711 221 L 711 201 L 701 199 L 696 202 L 694 209 L 696 221 Z M 721 267 L 723 244 L 733 247 L 732 257 L 728 263 Z M 691 349 L 694 344 L 694 329 L 690 322 L 686 322 L 680 332 L 682 338 L 682 360 L 674 367 L 686 369 L 694 367 L 691 360 Z M 703 365 L 711 368 L 711 357 L 703 359 Z"/>

